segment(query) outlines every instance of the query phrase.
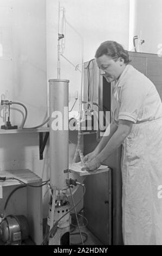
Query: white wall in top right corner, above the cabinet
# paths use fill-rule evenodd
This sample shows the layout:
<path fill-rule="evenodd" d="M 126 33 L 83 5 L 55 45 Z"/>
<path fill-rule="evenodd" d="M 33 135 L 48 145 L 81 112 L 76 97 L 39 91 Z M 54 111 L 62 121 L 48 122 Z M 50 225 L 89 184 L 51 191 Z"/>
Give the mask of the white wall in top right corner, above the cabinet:
<path fill-rule="evenodd" d="M 158 53 L 158 45 L 162 44 L 162 1 L 161 0 L 130 0 L 131 31 L 129 33 L 129 50 L 132 49 L 133 36 L 140 35 L 145 43 L 142 52 Z"/>

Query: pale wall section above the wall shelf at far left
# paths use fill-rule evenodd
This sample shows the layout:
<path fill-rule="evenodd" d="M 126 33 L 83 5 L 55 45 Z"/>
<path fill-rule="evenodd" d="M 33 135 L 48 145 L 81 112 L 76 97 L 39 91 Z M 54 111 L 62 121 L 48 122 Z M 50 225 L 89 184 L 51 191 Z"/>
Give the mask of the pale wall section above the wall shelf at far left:
<path fill-rule="evenodd" d="M 0 0 L 0 14 L 0 41 L 10 51 L 9 58 L 0 57 L 0 96 L 8 91 L 8 100 L 24 103 L 25 126 L 36 126 L 47 112 L 46 0 Z M 12 108 L 12 123 L 19 126 L 24 109 Z"/>

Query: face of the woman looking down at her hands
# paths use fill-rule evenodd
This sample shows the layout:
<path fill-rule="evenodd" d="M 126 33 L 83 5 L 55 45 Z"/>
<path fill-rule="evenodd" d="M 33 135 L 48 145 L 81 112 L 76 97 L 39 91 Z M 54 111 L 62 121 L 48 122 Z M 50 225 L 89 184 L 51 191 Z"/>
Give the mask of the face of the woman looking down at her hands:
<path fill-rule="evenodd" d="M 118 58 L 117 60 L 114 60 L 105 54 L 103 54 L 99 58 L 96 58 L 96 63 L 101 70 L 101 75 L 106 78 L 108 83 L 111 83 L 118 79 L 126 66 L 123 58 Z"/>

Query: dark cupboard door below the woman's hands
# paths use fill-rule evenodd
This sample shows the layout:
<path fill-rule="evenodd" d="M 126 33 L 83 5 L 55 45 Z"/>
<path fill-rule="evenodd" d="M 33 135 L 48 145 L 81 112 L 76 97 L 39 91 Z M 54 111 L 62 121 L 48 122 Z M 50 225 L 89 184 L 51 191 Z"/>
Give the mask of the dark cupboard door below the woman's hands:
<path fill-rule="evenodd" d="M 84 213 L 88 220 L 87 228 L 103 245 L 109 245 L 111 235 L 109 179 L 109 173 L 90 175 L 86 179 Z"/>

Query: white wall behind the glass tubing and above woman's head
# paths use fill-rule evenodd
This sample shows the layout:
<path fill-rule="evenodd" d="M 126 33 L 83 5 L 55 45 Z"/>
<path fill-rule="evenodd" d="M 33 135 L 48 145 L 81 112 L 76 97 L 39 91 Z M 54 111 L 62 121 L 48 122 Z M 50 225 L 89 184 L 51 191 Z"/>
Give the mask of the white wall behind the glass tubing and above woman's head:
<path fill-rule="evenodd" d="M 66 19 L 84 40 L 84 61 L 94 58 L 102 41 L 115 40 L 128 49 L 129 0 L 62 0 Z M 57 78 L 57 33 L 59 1 L 47 0 L 47 78 Z M 66 56 L 81 64 L 81 40 L 66 27 Z M 81 66 L 80 66 L 81 69 Z M 69 93 L 73 105 L 75 90 L 80 87 L 80 74 L 61 58 L 61 78 L 70 80 Z M 78 109 L 78 105 L 74 108 Z"/>

